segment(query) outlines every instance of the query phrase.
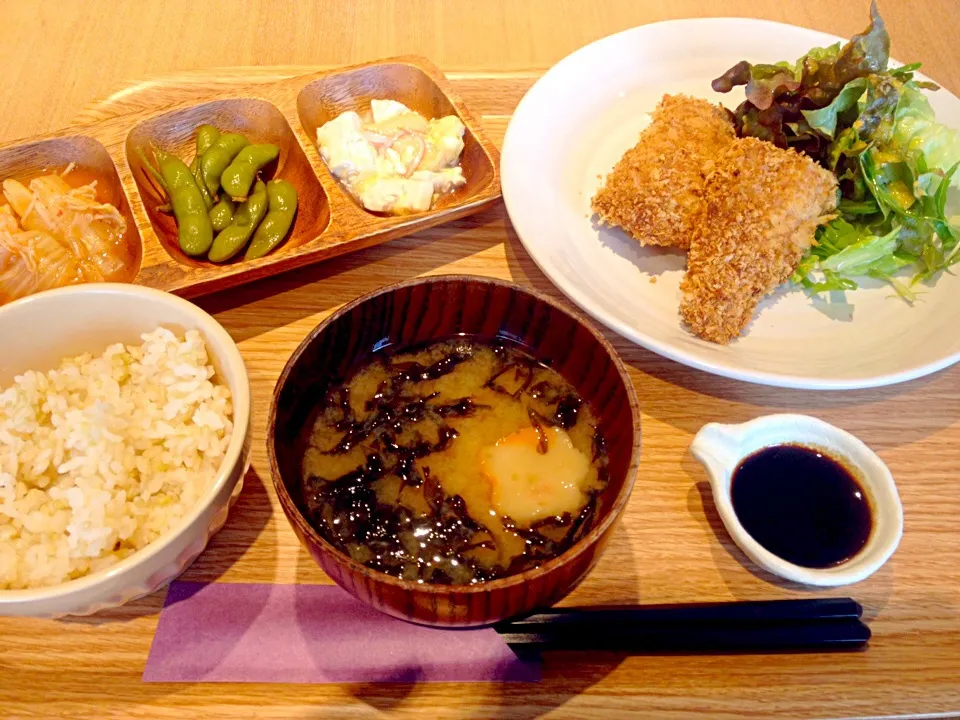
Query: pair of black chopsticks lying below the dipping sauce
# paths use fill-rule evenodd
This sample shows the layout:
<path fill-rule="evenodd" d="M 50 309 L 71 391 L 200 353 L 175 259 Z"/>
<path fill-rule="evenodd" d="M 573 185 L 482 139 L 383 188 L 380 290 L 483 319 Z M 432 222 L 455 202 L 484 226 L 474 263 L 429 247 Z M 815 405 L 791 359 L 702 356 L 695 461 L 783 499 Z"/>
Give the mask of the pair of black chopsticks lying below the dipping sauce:
<path fill-rule="evenodd" d="M 496 626 L 524 650 L 788 652 L 863 647 L 870 629 L 849 598 L 553 608 Z"/>

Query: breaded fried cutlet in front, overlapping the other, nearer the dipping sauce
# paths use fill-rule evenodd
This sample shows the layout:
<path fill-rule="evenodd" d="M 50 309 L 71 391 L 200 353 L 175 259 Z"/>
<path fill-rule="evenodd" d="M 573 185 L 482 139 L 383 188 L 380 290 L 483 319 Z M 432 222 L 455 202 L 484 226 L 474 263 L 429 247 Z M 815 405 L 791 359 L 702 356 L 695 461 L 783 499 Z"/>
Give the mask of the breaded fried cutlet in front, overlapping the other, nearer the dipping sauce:
<path fill-rule="evenodd" d="M 836 178 L 805 155 L 756 138 L 728 145 L 704 183 L 680 284 L 693 332 L 724 345 L 738 337 L 836 207 Z"/>

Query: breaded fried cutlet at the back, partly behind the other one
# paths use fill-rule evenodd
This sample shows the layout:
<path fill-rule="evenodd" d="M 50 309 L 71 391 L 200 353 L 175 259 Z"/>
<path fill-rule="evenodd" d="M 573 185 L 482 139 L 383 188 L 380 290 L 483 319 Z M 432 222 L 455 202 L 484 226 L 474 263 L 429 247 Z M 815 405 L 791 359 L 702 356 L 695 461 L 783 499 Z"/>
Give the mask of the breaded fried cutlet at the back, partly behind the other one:
<path fill-rule="evenodd" d="M 664 95 L 640 140 L 594 196 L 593 211 L 641 245 L 690 247 L 703 173 L 734 139 L 733 123 L 718 105 Z"/>

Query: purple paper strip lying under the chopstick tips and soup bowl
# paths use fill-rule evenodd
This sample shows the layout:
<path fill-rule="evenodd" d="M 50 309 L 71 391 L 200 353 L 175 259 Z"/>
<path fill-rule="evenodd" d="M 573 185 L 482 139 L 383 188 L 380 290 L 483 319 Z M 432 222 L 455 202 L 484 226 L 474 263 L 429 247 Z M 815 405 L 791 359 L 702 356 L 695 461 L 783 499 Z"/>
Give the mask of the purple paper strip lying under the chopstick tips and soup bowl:
<path fill-rule="evenodd" d="M 332 585 L 174 582 L 145 682 L 540 680 L 491 628 L 391 618 Z"/>

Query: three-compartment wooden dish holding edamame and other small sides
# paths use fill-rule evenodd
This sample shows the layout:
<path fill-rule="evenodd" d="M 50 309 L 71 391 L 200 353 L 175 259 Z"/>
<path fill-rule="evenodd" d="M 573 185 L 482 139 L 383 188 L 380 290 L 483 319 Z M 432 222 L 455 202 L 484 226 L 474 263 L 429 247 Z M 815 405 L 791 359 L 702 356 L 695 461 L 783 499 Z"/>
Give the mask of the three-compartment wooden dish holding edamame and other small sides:
<path fill-rule="evenodd" d="M 213 83 L 200 93 L 194 86 L 185 93 L 175 84 L 145 87 L 135 102 L 118 106 L 121 113 L 0 146 L 0 178 L 26 179 L 74 162 L 97 179 L 101 197 L 127 218 L 128 240 L 139 248 L 130 278 L 137 284 L 195 297 L 449 222 L 500 198 L 499 151 L 443 73 L 421 57 L 267 82 Z M 320 158 L 316 129 L 346 110 L 367 109 L 373 98 L 399 100 L 428 118 L 458 115 L 466 126 L 461 165 L 467 184 L 425 213 L 387 216 L 362 208 Z M 137 150 L 156 143 L 189 161 L 194 130 L 205 122 L 280 147 L 274 176 L 296 186 L 299 209 L 289 237 L 263 258 L 224 264 L 190 258 L 177 245 L 173 218 L 156 210 L 164 199 Z"/>

